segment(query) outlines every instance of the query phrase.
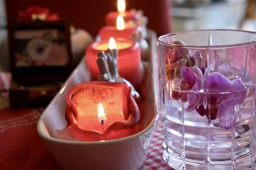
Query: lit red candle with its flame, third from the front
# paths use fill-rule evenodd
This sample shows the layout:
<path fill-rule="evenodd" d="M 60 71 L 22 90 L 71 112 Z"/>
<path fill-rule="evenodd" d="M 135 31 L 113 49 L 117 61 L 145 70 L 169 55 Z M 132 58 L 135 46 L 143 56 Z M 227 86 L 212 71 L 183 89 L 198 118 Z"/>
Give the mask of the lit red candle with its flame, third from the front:
<path fill-rule="evenodd" d="M 142 31 L 142 27 L 136 25 L 125 25 L 122 15 L 116 18 L 116 26 L 105 26 L 99 31 L 101 39 L 114 38 L 131 38 L 136 31 Z"/>

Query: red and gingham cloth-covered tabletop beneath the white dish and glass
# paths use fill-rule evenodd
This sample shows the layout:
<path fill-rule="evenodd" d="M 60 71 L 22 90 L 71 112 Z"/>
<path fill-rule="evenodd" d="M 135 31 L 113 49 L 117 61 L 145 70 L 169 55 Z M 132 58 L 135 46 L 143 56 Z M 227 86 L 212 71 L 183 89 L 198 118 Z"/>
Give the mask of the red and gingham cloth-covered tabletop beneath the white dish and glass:
<path fill-rule="evenodd" d="M 0 169 L 60 169 L 36 132 L 43 109 L 0 110 Z M 163 160 L 163 125 L 159 123 L 140 170 L 171 169 Z"/>

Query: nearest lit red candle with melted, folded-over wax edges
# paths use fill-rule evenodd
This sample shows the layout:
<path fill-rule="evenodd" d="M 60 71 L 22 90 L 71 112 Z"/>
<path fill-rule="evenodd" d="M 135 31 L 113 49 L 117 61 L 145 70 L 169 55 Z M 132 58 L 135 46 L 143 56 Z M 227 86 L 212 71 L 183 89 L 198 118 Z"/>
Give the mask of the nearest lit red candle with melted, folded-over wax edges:
<path fill-rule="evenodd" d="M 90 81 L 68 92 L 65 117 L 72 138 L 100 141 L 138 132 L 140 111 L 125 83 Z"/>

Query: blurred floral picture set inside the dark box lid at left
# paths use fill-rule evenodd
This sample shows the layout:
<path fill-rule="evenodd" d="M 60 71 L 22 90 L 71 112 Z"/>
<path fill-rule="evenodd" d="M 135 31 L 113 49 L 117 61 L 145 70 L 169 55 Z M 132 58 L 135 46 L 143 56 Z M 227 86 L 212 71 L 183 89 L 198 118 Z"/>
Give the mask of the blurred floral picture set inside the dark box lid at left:
<path fill-rule="evenodd" d="M 58 29 L 17 30 L 15 66 L 66 66 L 68 52 L 65 32 Z"/>

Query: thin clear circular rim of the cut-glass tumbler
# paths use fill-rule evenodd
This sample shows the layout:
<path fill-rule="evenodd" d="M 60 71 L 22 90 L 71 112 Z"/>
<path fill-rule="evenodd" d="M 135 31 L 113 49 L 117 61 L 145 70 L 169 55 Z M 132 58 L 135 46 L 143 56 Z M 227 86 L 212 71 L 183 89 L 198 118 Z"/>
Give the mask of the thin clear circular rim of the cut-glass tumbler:
<path fill-rule="evenodd" d="M 161 45 L 165 45 L 165 46 L 170 46 L 170 47 L 175 47 L 175 46 L 182 46 L 184 48 L 228 48 L 228 47 L 236 47 L 236 46 L 244 46 L 244 45 L 252 45 L 252 44 L 256 44 L 256 40 L 255 41 L 248 41 L 245 43 L 237 43 L 237 44 L 230 44 L 230 45 L 204 45 L 204 46 L 199 46 L 199 45 L 177 45 L 177 44 L 170 44 L 170 43 L 165 43 L 163 42 L 161 39 L 165 38 L 167 36 L 173 36 L 176 34 L 185 34 L 188 32 L 202 32 L 202 31 L 231 31 L 231 32 L 244 32 L 244 33 L 250 33 L 250 34 L 254 34 L 255 39 L 256 39 L 256 32 L 253 31 L 245 31 L 245 30 L 241 30 L 241 29 L 196 29 L 196 30 L 191 30 L 191 31 L 179 31 L 179 32 L 172 32 L 170 34 L 164 34 L 162 36 L 159 36 L 157 38 L 157 43 L 160 43 Z"/>

